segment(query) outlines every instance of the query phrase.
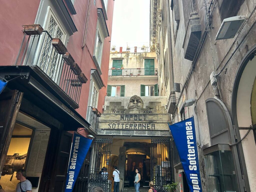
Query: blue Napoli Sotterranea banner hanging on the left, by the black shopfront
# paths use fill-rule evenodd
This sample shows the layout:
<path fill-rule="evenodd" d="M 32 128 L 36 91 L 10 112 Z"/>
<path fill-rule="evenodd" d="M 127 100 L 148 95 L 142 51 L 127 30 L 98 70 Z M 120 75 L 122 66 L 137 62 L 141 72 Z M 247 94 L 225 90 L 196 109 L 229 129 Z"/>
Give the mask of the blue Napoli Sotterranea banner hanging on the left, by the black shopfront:
<path fill-rule="evenodd" d="M 72 192 L 84 159 L 91 146 L 92 140 L 81 135 L 74 134 L 71 154 L 69 159 L 68 174 L 65 192 Z"/>

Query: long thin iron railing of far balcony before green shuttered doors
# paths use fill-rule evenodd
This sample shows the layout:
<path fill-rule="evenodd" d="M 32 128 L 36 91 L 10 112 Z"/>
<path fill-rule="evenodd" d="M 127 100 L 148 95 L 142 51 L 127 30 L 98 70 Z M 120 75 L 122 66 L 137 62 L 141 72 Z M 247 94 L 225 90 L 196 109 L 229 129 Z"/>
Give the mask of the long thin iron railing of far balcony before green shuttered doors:
<path fill-rule="evenodd" d="M 109 76 L 149 76 L 149 75 L 157 75 L 157 68 L 153 69 L 109 69 Z"/>

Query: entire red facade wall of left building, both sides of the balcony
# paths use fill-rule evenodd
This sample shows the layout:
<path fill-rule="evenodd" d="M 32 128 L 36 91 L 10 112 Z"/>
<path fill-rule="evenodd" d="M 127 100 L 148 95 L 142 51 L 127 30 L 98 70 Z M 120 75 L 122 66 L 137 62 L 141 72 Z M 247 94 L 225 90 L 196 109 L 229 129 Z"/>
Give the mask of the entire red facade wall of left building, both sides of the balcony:
<path fill-rule="evenodd" d="M 23 39 L 22 25 L 32 24 L 35 22 L 35 18 L 38 12 L 40 0 L 7 0 L 2 1 L 0 6 L 0 52 L 1 62 L 0 65 L 14 65 L 18 51 Z M 96 1 L 96 6 L 91 0 L 91 9 L 87 30 L 86 46 L 82 49 L 84 30 L 86 25 L 86 17 L 88 10 L 89 0 L 75 0 L 74 7 L 77 12 L 76 15 L 71 15 L 76 27 L 77 32 L 70 36 L 67 49 L 78 63 L 83 73 L 88 78 L 87 83 L 83 84 L 79 102 L 79 108 L 77 111 L 86 118 L 86 111 L 88 105 L 89 88 L 90 88 L 90 76 L 91 69 L 96 69 L 96 66 L 92 60 L 95 33 L 97 26 L 97 9 L 102 8 L 100 0 Z M 104 39 L 104 47 L 101 62 L 101 78 L 107 85 L 108 81 L 108 66 L 110 56 L 110 40 L 112 31 L 112 20 L 113 20 L 113 8 L 114 1 L 108 1 L 106 21 L 109 31 L 109 37 Z M 70 13 L 70 12 L 69 12 Z M 4 56 L 4 57 L 3 57 Z M 106 95 L 106 87 L 100 89 L 98 110 L 102 112 L 102 105 L 104 105 L 104 97 Z"/>

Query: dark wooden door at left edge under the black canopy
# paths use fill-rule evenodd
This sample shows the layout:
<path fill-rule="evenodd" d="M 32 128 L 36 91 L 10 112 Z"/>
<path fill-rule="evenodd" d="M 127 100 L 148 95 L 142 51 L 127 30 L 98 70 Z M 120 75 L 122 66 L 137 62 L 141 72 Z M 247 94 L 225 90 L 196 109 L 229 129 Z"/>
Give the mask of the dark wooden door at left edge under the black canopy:
<path fill-rule="evenodd" d="M 12 138 L 23 93 L 17 90 L 0 94 L 0 172 L 2 173 L 6 154 Z M 1 174 L 0 174 L 1 177 Z"/>

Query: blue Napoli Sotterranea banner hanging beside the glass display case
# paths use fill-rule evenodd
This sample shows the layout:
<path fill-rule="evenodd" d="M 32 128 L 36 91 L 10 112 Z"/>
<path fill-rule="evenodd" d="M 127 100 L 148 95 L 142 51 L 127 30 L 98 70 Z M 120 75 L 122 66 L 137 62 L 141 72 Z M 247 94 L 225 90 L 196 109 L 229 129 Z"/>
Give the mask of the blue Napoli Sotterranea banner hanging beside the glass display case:
<path fill-rule="evenodd" d="M 201 192 L 194 117 L 169 125 L 190 192 Z"/>

